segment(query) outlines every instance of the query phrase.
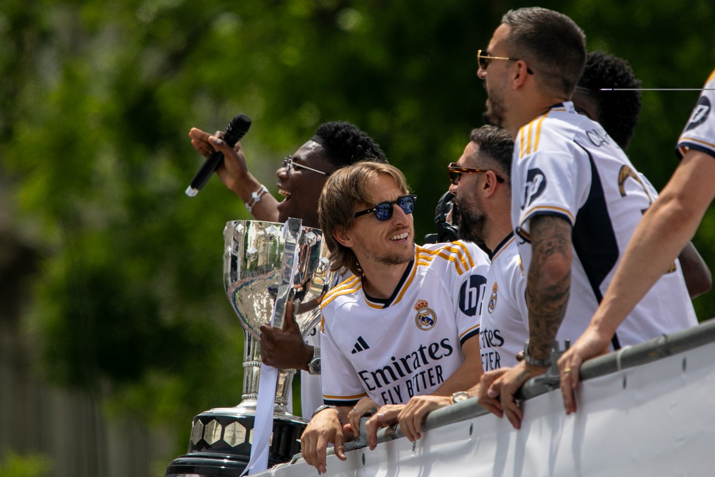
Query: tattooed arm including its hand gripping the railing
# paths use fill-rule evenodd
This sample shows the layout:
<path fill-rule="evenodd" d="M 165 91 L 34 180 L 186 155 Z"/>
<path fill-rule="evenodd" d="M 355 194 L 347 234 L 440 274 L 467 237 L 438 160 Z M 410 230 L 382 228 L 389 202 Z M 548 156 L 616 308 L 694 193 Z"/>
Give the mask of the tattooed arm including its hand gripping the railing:
<path fill-rule="evenodd" d="M 557 216 L 536 216 L 531 218 L 529 228 L 532 253 L 526 282 L 528 351 L 536 360 L 548 360 L 571 290 L 571 223 Z M 501 395 L 501 408 L 514 428 L 521 428 L 523 418 L 514 394 L 524 382 L 544 372 L 546 367 L 522 361 L 490 385 L 488 397 Z"/>

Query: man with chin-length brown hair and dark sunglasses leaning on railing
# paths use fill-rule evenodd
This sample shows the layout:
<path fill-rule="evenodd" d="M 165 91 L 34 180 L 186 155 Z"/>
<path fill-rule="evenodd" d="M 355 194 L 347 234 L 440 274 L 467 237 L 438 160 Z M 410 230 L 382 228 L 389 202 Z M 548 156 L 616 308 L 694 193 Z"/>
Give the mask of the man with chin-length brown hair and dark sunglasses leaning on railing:
<path fill-rule="evenodd" d="M 328 443 L 357 429 L 350 410 L 367 396 L 381 406 L 368 421 L 394 420 L 419 438 L 433 401 L 469 397 L 481 376 L 478 304 L 488 258 L 474 244 L 417 246 L 415 196 L 397 168 L 362 162 L 335 171 L 320 196 L 320 225 L 330 266 L 348 278 L 322 300 L 322 390 L 301 438 L 305 461 L 325 472 Z"/>

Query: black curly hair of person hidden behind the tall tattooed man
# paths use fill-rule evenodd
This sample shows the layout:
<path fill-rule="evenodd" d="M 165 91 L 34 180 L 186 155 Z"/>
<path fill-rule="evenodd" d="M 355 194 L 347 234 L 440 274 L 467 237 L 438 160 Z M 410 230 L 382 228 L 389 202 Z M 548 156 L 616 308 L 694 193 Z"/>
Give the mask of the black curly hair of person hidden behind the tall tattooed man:
<path fill-rule="evenodd" d="M 600 88 L 639 88 L 631 65 L 625 59 L 596 51 L 588 53 L 586 67 L 576 88 L 596 100 L 598 122 L 626 150 L 641 112 L 640 91 L 600 91 Z M 596 119 L 596 118 L 593 118 Z"/>

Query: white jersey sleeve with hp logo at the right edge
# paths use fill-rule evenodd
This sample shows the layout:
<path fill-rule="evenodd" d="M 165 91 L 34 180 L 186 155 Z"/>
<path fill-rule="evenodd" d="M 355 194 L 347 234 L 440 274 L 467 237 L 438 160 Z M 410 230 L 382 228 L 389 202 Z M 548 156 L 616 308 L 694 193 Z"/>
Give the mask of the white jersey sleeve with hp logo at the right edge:
<path fill-rule="evenodd" d="M 676 154 L 683 158 L 687 150 L 696 149 L 715 157 L 715 69 L 705 82 L 688 124 L 678 139 Z"/>

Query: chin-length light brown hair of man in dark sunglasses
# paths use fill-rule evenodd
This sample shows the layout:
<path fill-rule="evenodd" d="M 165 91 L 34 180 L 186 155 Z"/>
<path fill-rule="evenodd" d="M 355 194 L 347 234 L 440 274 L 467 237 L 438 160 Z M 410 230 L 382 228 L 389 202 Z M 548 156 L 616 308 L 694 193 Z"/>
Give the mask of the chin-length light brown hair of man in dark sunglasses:
<path fill-rule="evenodd" d="M 349 231 L 355 224 L 355 206 L 375 205 L 375 198 L 370 194 L 370 180 L 380 174 L 388 174 L 403 194 L 409 193 L 407 180 L 402 171 L 394 165 L 365 160 L 340 168 L 325 181 L 320 193 L 317 214 L 320 228 L 330 249 L 330 269 L 346 270 L 360 276 L 363 269 L 358 264 L 355 253 L 335 239 L 336 231 Z"/>

